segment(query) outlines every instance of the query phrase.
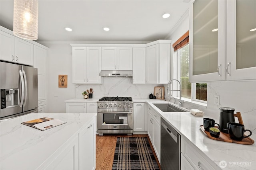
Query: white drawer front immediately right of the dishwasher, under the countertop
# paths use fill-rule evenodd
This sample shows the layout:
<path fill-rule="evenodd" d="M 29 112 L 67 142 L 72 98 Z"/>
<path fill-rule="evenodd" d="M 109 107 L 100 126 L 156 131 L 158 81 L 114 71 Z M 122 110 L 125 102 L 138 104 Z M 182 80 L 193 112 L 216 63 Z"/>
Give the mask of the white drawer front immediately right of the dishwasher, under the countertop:
<path fill-rule="evenodd" d="M 181 140 L 181 152 L 184 157 L 190 162 L 195 169 L 200 170 L 216 170 L 217 166 L 213 168 L 191 145 L 184 139 Z M 205 155 L 206 156 L 206 155 Z"/>

